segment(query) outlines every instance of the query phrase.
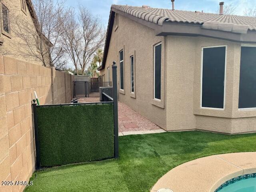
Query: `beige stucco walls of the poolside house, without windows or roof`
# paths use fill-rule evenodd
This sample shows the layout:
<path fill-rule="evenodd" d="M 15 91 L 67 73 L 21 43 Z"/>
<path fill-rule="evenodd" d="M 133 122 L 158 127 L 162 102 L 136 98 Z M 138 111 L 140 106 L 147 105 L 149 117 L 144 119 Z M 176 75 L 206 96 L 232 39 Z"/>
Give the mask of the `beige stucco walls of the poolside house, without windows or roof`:
<path fill-rule="evenodd" d="M 124 91 L 119 100 L 168 131 L 256 132 L 256 110 L 238 110 L 241 43 L 206 37 L 155 36 L 154 30 L 119 15 L 106 68 L 124 49 Z M 153 46 L 162 42 L 161 103 L 153 101 Z M 227 46 L 224 110 L 200 107 L 202 47 Z M 130 94 L 130 56 L 135 55 L 135 95 Z M 110 76 L 112 70 L 110 67 Z"/>

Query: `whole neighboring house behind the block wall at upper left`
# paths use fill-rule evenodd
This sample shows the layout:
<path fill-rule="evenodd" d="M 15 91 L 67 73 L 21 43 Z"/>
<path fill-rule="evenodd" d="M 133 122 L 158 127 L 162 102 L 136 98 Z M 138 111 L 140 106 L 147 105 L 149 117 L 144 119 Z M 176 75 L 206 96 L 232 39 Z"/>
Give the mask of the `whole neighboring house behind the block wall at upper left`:
<path fill-rule="evenodd" d="M 31 0 L 0 0 L 0 19 L 0 54 L 42 65 L 31 53 L 40 57 L 40 50 L 47 52 L 46 45 L 51 42 L 38 35 L 38 20 Z M 50 56 L 45 54 L 44 59 L 50 61 Z"/>

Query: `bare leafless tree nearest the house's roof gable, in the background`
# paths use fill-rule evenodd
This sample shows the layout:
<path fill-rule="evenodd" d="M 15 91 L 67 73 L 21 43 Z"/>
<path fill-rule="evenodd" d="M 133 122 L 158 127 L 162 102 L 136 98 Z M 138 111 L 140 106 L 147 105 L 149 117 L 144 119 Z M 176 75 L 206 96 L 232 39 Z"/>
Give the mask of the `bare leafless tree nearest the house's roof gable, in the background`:
<path fill-rule="evenodd" d="M 102 48 L 105 40 L 105 29 L 98 17 L 83 6 L 79 6 L 78 15 L 74 9 L 69 10 L 68 19 L 64 20 L 63 48 L 78 74 L 84 74 L 86 67 L 90 64 L 93 54 Z"/>

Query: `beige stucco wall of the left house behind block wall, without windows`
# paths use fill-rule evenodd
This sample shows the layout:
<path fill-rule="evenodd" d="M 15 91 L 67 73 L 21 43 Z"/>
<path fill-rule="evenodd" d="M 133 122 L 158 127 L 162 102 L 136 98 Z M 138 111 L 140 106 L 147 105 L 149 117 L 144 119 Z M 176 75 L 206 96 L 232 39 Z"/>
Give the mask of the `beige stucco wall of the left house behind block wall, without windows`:
<path fill-rule="evenodd" d="M 2 29 L 2 4 L 4 4 L 9 10 L 9 21 L 10 21 L 10 34 L 6 34 Z M 0 0 L 0 38 L 4 41 L 2 45 L 0 45 L 0 54 L 4 54 L 8 57 L 16 58 L 18 60 L 33 62 L 34 64 L 42 65 L 42 62 L 35 58 L 32 55 L 32 48 L 35 54 L 38 54 L 40 57 L 40 53 L 36 48 L 36 41 L 31 36 L 31 33 L 36 33 L 36 28 L 34 26 L 30 11 L 28 10 L 28 6 L 26 7 L 26 12 L 24 13 L 21 9 L 21 0 Z M 26 30 L 22 30 L 25 34 L 24 36 L 28 36 L 28 40 L 30 40 L 30 48 L 26 45 L 26 43 L 17 36 L 18 32 L 20 34 L 20 30 L 16 24 L 18 22 L 23 28 L 28 26 L 29 32 L 25 33 Z M 45 44 L 43 43 L 43 49 L 46 50 Z M 22 50 L 23 54 L 19 52 Z M 25 55 L 24 53 L 30 54 Z M 46 63 L 50 61 L 50 58 L 45 56 L 44 58 Z"/>

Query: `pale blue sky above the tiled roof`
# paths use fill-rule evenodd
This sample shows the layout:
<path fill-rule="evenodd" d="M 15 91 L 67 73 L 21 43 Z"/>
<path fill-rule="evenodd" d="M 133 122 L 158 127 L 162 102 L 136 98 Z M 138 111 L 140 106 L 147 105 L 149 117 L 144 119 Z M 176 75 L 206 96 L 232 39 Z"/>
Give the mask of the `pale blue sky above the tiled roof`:
<path fill-rule="evenodd" d="M 175 0 L 175 9 L 202 11 L 215 13 L 222 0 Z M 225 4 L 232 3 L 237 6 L 236 14 L 243 15 L 245 8 L 256 7 L 255 0 L 223 0 Z M 155 8 L 171 8 L 170 0 L 66 0 L 68 6 L 77 7 L 78 4 L 86 6 L 93 14 L 102 18 L 107 25 L 111 4 L 142 6 L 149 5 Z M 225 6 L 224 4 L 224 6 Z"/>

